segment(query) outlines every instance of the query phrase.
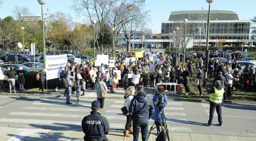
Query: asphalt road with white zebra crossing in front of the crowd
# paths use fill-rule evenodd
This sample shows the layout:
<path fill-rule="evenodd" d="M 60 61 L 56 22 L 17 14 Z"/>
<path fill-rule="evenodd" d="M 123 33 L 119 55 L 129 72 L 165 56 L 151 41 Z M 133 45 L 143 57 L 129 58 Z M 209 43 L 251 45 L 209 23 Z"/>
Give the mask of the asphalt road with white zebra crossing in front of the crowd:
<path fill-rule="evenodd" d="M 80 97 L 79 104 L 65 104 L 64 97 L 0 97 L 0 126 L 61 130 L 81 128 L 95 99 Z M 75 101 L 76 97 L 72 97 Z M 126 117 L 120 108 L 124 100 L 106 99 L 100 113 L 111 129 L 124 129 Z M 256 105 L 224 104 L 223 127 L 214 116 L 213 126 L 204 126 L 209 119 L 209 103 L 169 101 L 166 120 L 171 132 L 256 136 Z M 149 126 L 153 125 L 150 119 Z"/>

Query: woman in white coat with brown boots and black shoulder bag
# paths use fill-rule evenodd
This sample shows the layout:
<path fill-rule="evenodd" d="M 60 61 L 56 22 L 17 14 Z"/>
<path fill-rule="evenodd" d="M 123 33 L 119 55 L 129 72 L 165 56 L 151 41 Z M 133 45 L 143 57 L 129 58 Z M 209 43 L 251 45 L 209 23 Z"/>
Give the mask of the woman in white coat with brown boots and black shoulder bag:
<path fill-rule="evenodd" d="M 135 95 L 135 87 L 129 86 L 124 95 L 124 106 L 129 109 L 129 105 L 131 103 L 132 98 Z M 128 133 L 128 131 L 130 131 Z M 126 124 L 125 124 L 125 130 L 124 130 L 124 137 L 133 137 L 133 130 L 132 130 L 132 118 L 130 117 L 129 113 L 126 114 Z"/>

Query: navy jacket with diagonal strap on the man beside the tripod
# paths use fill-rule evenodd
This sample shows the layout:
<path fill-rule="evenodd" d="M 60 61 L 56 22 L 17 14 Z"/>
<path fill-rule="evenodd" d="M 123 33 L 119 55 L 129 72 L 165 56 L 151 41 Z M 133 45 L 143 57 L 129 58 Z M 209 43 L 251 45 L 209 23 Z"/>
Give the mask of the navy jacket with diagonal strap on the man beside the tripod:
<path fill-rule="evenodd" d="M 153 100 L 142 92 L 134 96 L 129 105 L 132 120 L 148 120 L 154 114 Z"/>

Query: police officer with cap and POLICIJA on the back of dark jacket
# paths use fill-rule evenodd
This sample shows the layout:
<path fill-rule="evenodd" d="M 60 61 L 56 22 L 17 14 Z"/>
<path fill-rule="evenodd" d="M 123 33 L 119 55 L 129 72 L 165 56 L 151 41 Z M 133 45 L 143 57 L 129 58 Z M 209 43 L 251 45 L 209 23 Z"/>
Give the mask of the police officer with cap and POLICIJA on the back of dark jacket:
<path fill-rule="evenodd" d="M 85 141 L 107 141 L 106 135 L 109 133 L 109 122 L 100 115 L 100 102 L 92 102 L 91 114 L 82 120 L 82 129 L 85 133 Z"/>

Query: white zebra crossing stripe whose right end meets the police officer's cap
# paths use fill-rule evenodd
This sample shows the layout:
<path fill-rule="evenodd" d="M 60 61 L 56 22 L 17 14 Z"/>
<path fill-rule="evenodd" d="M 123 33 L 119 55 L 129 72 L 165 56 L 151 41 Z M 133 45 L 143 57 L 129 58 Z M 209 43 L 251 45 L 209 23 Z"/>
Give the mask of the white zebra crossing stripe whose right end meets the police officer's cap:
<path fill-rule="evenodd" d="M 78 108 L 47 108 L 47 107 L 23 107 L 21 109 L 24 110 L 50 110 L 50 111 L 79 111 L 79 112 L 90 112 L 92 111 L 91 109 L 88 108 L 83 108 L 83 109 L 78 109 Z"/>

